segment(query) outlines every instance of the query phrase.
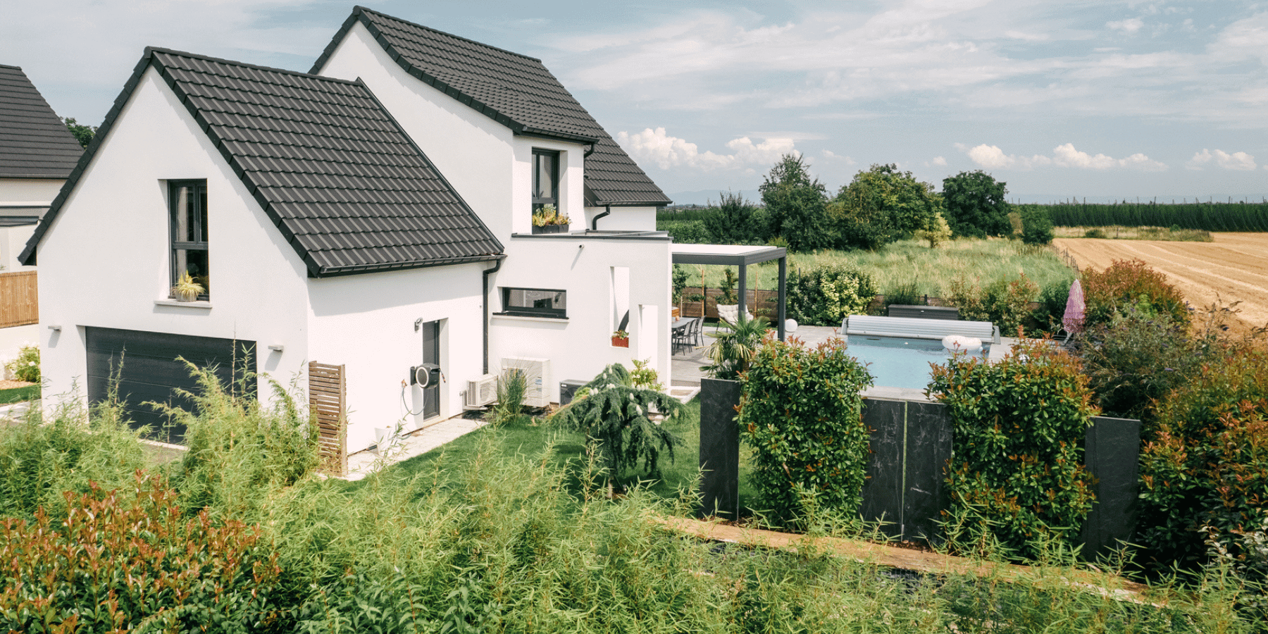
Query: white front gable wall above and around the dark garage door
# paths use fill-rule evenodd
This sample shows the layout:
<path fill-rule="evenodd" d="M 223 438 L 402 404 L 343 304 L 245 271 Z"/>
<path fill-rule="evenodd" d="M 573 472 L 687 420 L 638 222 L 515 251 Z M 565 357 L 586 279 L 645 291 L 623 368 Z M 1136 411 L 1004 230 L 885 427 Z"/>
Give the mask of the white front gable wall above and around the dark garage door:
<path fill-rule="evenodd" d="M 169 179 L 207 179 L 210 308 L 155 303 L 170 287 Z M 153 70 L 37 255 L 46 404 L 75 382 L 86 399 L 89 326 L 256 341 L 257 370 L 283 384 L 306 369 L 303 262 Z"/>

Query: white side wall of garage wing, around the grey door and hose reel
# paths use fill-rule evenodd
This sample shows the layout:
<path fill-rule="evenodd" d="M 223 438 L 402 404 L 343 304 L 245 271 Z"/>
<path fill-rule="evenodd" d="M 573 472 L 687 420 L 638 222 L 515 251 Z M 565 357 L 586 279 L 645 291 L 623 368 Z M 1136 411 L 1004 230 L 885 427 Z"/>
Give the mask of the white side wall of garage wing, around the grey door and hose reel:
<path fill-rule="evenodd" d="M 483 373 L 481 271 L 489 264 L 432 266 L 309 279 L 312 360 L 345 365 L 347 380 L 347 450 L 375 443 L 374 427 L 402 424 L 417 429 L 422 391 L 401 382 L 422 363 L 417 320 L 440 321 L 440 418 L 463 411 L 460 392 Z M 430 422 L 430 421 L 429 421 Z"/>

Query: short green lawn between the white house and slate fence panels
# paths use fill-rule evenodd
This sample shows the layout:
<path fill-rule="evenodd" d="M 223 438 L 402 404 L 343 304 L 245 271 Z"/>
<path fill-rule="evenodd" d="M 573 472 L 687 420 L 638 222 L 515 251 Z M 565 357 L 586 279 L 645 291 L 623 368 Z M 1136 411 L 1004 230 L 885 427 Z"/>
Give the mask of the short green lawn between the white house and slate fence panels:
<path fill-rule="evenodd" d="M 618 483 L 631 487 L 643 479 L 644 489 L 667 500 L 677 498 L 683 492 L 694 495 L 696 476 L 700 472 L 700 399 L 691 399 L 683 408 L 682 416 L 667 425 L 680 443 L 673 450 L 675 459 L 670 460 L 668 455 L 662 455 L 659 473 L 652 477 L 645 473 L 639 474 L 639 472 L 626 473 L 618 478 Z M 489 443 L 495 448 L 496 455 L 501 458 L 534 455 L 553 443 L 550 460 L 555 465 L 579 468 L 585 460 L 586 440 L 581 434 L 564 431 L 544 418 L 521 416 L 497 427 L 489 425 L 476 430 L 426 454 L 402 460 L 389 469 L 392 469 L 393 476 L 410 477 L 417 473 L 431 473 L 437 465 L 465 464 L 487 449 L 486 443 Z M 753 489 L 748 484 L 749 455 L 751 450 L 741 445 L 741 508 L 748 508 L 756 502 Z M 444 470 L 450 472 L 450 469 Z"/>

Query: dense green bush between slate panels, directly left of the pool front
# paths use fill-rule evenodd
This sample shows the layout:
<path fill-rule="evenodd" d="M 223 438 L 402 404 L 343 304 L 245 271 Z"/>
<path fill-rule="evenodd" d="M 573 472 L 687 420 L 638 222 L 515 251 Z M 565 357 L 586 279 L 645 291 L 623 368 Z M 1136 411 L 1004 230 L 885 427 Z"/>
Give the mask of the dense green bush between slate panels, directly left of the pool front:
<path fill-rule="evenodd" d="M 767 341 L 758 350 L 738 424 L 753 449 L 753 487 L 773 517 L 796 522 L 806 496 L 841 514 L 858 510 L 869 454 L 858 391 L 871 383 L 839 339 L 815 349 Z"/>

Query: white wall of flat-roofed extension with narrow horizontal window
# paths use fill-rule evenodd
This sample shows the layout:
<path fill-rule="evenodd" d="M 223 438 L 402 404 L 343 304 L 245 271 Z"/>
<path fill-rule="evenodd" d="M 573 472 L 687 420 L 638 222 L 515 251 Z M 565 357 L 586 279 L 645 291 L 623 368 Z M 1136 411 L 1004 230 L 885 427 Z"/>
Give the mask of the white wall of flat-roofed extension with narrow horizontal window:
<path fill-rule="evenodd" d="M 507 264 L 491 275 L 491 312 L 501 312 L 501 288 L 550 288 L 568 292 L 568 320 L 493 316 L 489 372 L 507 356 L 552 360 L 549 398 L 559 401 L 563 379 L 592 379 L 605 365 L 647 359 L 670 384 L 670 241 L 583 237 L 512 238 Z M 520 265 L 512 265 L 514 261 Z M 614 266 L 629 270 L 630 347 L 614 347 Z M 654 308 L 652 308 L 654 307 Z M 650 308 L 650 311 L 649 311 Z M 643 323 L 640 314 L 659 317 Z"/>

